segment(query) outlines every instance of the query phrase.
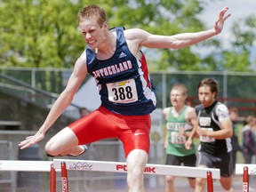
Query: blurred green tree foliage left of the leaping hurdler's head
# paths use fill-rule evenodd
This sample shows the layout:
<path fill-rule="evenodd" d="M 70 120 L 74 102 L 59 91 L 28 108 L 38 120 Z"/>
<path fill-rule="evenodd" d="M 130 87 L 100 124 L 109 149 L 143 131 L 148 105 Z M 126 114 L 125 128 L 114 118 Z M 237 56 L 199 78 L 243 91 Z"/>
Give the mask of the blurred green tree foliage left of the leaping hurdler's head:
<path fill-rule="evenodd" d="M 1 63 L 70 68 L 85 46 L 76 22 L 81 6 L 68 0 L 1 1 Z"/>

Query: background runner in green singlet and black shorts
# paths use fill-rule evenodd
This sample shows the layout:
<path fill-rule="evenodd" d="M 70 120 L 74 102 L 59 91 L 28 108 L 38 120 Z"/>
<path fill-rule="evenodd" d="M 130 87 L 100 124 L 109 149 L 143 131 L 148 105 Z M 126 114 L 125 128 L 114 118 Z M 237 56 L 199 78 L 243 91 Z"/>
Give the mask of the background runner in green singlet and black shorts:
<path fill-rule="evenodd" d="M 196 166 L 196 147 L 188 142 L 188 136 L 193 127 L 198 124 L 195 108 L 185 104 L 188 96 L 185 84 L 174 84 L 170 92 L 172 107 L 164 108 L 163 114 L 166 119 L 166 136 L 164 148 L 166 148 L 166 163 L 170 165 Z M 194 129 L 194 130 L 195 130 Z M 165 191 L 174 191 L 174 179 L 172 175 L 165 176 Z M 195 188 L 195 178 L 188 178 L 191 188 Z"/>

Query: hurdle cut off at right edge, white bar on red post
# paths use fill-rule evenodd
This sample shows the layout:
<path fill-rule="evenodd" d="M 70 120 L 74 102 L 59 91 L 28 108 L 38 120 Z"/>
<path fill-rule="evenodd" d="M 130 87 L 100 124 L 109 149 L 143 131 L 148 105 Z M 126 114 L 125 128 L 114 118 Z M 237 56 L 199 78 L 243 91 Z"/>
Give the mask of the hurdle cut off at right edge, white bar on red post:
<path fill-rule="evenodd" d="M 256 175 L 256 164 L 236 164 L 236 174 L 243 175 L 243 192 L 249 192 L 249 178 Z"/>

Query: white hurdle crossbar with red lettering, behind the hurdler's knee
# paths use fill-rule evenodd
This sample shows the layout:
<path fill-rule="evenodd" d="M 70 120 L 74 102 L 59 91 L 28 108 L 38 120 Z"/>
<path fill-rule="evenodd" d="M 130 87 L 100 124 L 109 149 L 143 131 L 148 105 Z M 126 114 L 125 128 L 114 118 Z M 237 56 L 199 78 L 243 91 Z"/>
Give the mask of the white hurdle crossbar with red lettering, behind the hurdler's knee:
<path fill-rule="evenodd" d="M 124 162 L 53 159 L 55 169 L 60 170 L 61 162 L 66 163 L 67 170 L 92 172 L 127 172 L 126 163 Z M 195 178 L 207 178 L 207 172 L 212 172 L 212 179 L 220 180 L 220 169 L 173 166 L 162 164 L 147 164 L 144 169 L 145 174 L 173 175 L 180 177 Z"/>

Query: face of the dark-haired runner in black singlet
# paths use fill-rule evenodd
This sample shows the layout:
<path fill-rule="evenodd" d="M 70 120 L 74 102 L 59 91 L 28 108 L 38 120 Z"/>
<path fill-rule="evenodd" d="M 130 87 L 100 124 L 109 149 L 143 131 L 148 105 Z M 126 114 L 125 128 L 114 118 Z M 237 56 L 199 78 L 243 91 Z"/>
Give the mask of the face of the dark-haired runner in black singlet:
<path fill-rule="evenodd" d="M 204 107 L 209 107 L 215 100 L 216 92 L 211 92 L 211 88 L 208 85 L 203 85 L 198 88 L 198 99 L 204 105 Z"/>

